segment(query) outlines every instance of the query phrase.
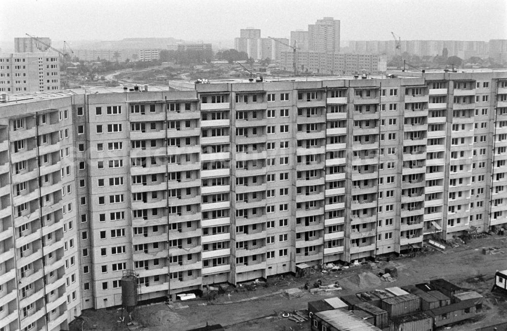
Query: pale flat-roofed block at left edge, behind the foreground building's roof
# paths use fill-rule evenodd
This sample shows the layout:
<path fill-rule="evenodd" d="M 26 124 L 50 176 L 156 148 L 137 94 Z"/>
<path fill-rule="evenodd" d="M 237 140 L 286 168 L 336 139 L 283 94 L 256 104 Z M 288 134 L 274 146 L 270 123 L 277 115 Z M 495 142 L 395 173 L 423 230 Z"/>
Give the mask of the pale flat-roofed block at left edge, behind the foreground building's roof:
<path fill-rule="evenodd" d="M 57 53 L 0 54 L 0 93 L 60 90 Z"/>

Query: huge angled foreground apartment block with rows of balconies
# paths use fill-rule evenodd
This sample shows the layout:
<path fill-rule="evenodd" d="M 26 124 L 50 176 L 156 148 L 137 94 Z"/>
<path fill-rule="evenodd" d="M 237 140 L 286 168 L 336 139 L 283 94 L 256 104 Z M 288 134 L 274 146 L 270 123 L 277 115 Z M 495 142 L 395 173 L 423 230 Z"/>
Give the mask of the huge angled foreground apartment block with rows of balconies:
<path fill-rule="evenodd" d="M 0 103 L 0 328 L 507 226 L 507 71 L 398 74 Z"/>

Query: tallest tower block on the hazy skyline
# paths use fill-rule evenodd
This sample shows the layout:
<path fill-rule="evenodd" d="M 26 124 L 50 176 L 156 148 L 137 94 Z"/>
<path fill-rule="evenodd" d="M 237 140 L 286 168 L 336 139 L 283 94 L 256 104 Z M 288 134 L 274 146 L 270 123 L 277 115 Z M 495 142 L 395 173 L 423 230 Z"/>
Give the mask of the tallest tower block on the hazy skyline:
<path fill-rule="evenodd" d="M 308 25 L 309 50 L 314 52 L 340 52 L 340 20 L 324 17 Z"/>

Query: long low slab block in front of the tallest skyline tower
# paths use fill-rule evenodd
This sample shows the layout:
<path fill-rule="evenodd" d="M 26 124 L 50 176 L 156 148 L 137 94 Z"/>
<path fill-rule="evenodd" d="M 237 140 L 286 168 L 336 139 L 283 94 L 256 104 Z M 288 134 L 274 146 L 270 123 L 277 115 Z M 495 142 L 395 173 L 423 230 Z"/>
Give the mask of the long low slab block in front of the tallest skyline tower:
<path fill-rule="evenodd" d="M 292 71 L 294 53 L 281 52 L 281 64 Z M 300 72 L 316 74 L 379 73 L 385 71 L 385 60 L 378 54 L 296 52 L 296 65 Z"/>

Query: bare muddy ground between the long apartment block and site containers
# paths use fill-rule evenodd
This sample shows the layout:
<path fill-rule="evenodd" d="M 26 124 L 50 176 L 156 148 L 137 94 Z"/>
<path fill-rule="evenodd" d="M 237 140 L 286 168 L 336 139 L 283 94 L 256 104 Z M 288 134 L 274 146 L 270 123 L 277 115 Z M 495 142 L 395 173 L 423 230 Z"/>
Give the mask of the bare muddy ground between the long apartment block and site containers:
<path fill-rule="evenodd" d="M 500 247 L 505 250 L 494 255 L 484 255 L 482 247 Z M 379 264 L 380 267 L 384 265 L 385 262 Z M 432 251 L 413 258 L 393 259 L 389 262 L 389 266 L 397 269 L 398 275 L 394 282 L 371 277 L 372 273 L 378 274 L 381 269 L 372 269 L 371 264 L 363 264 L 327 274 L 315 272 L 304 278 L 292 275 L 270 277 L 269 286 L 257 286 L 255 291 L 237 287 L 237 292 L 230 292 L 230 296 L 219 295 L 211 302 L 207 302 L 204 295 L 203 300 L 180 303 L 189 306 L 188 308 L 170 309 L 164 303 L 140 306 L 137 321 L 130 326 L 118 322 L 121 310 L 86 310 L 82 315 L 85 321 L 83 330 L 186 331 L 205 326 L 206 323 L 222 324 L 231 331 L 308 330 L 309 321 L 296 323 L 282 317 L 282 313 L 306 310 L 309 301 L 376 288 L 429 282 L 435 278 L 447 279 L 485 296 L 484 308 L 476 318 L 452 325 L 452 330 L 475 330 L 478 327 L 507 321 L 507 295 L 491 293 L 495 271 L 507 269 L 505 236 L 487 235 L 455 248 L 448 247 L 444 252 Z M 358 277 L 361 273 L 368 277 Z M 322 281 L 322 285 L 338 282 L 343 289 L 325 295 L 314 295 L 303 288 L 306 282 L 313 287 L 317 279 Z M 282 294 L 283 290 L 295 287 L 302 289 L 301 297 L 288 299 Z"/>

